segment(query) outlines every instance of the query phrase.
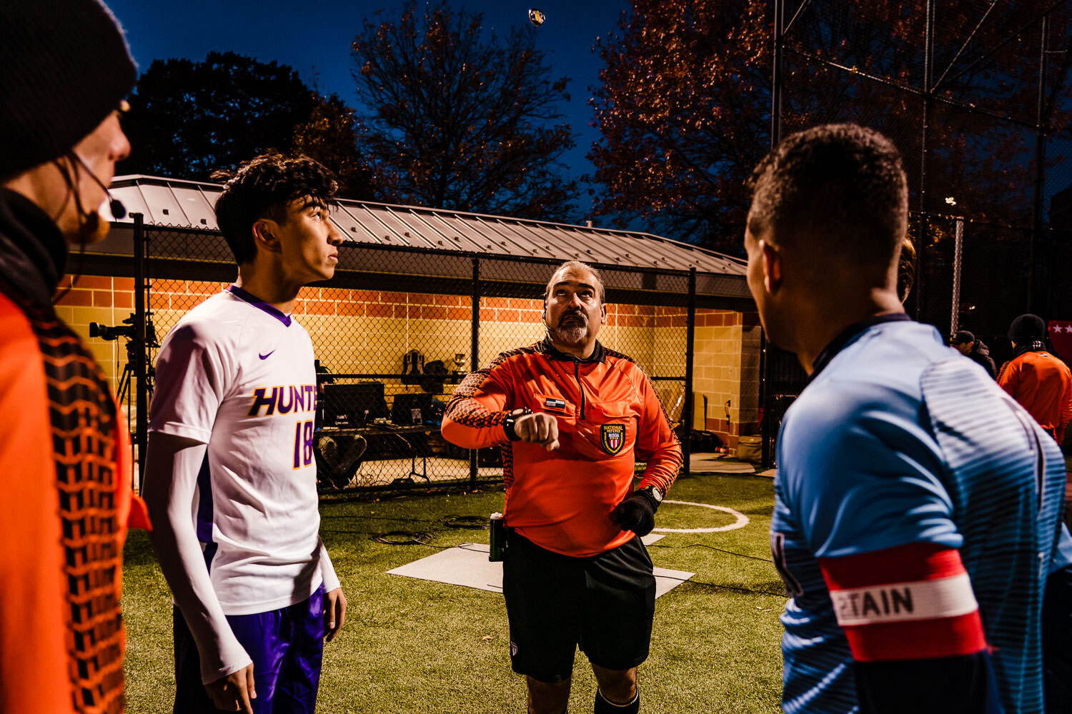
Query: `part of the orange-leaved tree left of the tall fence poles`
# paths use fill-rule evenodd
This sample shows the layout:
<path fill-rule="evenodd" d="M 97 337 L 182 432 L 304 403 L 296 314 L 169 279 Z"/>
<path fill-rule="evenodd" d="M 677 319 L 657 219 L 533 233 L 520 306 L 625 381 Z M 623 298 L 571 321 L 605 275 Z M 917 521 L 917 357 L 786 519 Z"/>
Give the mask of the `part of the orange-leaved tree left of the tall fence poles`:
<path fill-rule="evenodd" d="M 635 0 L 624 34 L 597 43 L 597 213 L 716 246 L 743 225 L 744 181 L 770 147 L 766 4 Z"/>

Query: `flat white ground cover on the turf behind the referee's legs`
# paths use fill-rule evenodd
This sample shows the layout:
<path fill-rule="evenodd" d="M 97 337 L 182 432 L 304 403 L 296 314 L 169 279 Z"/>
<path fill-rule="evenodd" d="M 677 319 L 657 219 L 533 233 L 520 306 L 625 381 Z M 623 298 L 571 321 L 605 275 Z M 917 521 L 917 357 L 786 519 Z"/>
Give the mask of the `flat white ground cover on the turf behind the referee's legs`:
<path fill-rule="evenodd" d="M 661 535 L 645 535 L 646 545 L 655 543 Z M 453 548 L 441 550 L 428 558 L 387 571 L 390 575 L 402 575 L 418 580 L 446 582 L 465 588 L 476 588 L 490 592 L 503 592 L 503 564 L 488 561 L 488 544 L 463 543 Z M 655 568 L 655 596 L 665 595 L 685 582 L 695 573 Z"/>

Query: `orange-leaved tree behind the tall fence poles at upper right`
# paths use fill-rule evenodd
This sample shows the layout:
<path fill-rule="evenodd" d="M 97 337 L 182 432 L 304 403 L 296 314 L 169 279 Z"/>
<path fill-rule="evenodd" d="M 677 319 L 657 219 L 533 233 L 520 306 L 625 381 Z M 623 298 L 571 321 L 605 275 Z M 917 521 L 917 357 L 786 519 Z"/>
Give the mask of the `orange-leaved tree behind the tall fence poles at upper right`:
<path fill-rule="evenodd" d="M 870 126 L 900 149 L 913 210 L 953 212 L 944 199 L 955 197 L 957 214 L 1029 226 L 1038 22 L 1049 4 L 937 3 L 925 204 L 924 0 L 786 2 L 781 134 L 827 122 Z M 589 154 L 601 184 L 595 210 L 735 252 L 744 183 L 771 141 L 771 3 L 631 5 L 621 34 L 596 45 L 606 66 L 591 100 L 602 134 Z M 1054 48 L 1068 45 L 1068 15 L 1051 15 Z M 1046 92 L 1059 100 L 1058 59 Z M 1061 109 L 1058 101 L 1053 125 L 1068 125 Z"/>

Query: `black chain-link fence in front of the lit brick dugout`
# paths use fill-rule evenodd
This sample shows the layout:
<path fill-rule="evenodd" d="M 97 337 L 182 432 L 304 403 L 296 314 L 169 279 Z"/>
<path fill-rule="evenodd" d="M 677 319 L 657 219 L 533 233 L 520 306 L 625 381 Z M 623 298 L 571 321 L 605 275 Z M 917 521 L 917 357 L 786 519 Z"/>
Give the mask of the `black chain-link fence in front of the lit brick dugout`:
<path fill-rule="evenodd" d="M 163 339 L 188 310 L 225 289 L 236 268 L 218 234 L 142 230 L 147 320 Z M 334 277 L 303 288 L 293 313 L 317 360 L 314 447 L 322 491 L 500 483 L 497 447 L 460 449 L 443 439 L 440 424 L 466 374 L 542 339 L 545 286 L 559 264 L 340 245 Z M 600 343 L 644 367 L 671 423 L 684 431 L 696 274 L 592 264 L 607 288 Z M 158 347 L 147 343 L 151 365 Z"/>

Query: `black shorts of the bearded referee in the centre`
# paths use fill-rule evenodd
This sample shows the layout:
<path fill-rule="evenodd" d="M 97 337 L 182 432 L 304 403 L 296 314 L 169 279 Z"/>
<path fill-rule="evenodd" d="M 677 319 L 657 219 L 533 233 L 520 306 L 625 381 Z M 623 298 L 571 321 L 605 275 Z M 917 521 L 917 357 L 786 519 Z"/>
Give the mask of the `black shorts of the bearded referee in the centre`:
<path fill-rule="evenodd" d="M 606 669 L 629 669 L 647 658 L 655 576 L 639 537 L 598 556 L 570 558 L 511 532 L 503 595 L 510 665 L 519 674 L 567 680 L 578 645 Z"/>

